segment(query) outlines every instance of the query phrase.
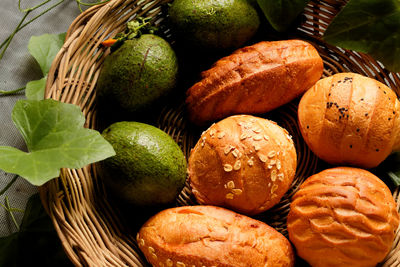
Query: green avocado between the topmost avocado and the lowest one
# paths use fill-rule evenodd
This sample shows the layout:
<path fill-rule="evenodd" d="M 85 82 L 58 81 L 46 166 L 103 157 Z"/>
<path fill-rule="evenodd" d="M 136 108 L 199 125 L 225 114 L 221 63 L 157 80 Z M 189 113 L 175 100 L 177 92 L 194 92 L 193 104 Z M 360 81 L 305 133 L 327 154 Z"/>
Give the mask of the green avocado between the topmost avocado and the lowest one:
<path fill-rule="evenodd" d="M 144 34 L 127 40 L 107 56 L 97 81 L 100 100 L 138 113 L 170 93 L 176 85 L 178 61 L 169 43 Z"/>

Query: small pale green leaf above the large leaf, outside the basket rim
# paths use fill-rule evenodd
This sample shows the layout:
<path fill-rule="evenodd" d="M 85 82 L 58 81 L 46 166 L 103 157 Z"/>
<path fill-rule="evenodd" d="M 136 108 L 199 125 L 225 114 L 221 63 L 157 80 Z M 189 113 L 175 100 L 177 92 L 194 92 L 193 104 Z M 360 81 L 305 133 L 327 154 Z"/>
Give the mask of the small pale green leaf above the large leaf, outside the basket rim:
<path fill-rule="evenodd" d="M 65 35 L 65 33 L 43 34 L 32 36 L 29 40 L 28 50 L 38 62 L 43 76 L 49 73 L 51 63 L 64 43 Z"/>

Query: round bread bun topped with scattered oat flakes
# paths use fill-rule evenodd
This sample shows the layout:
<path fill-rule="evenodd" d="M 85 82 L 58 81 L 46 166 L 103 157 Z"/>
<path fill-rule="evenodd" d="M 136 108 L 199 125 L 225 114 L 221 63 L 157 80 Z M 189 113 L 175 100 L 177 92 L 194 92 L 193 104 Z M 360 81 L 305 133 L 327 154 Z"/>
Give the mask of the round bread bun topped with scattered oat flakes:
<path fill-rule="evenodd" d="M 228 117 L 202 135 L 189 158 L 189 179 L 200 204 L 257 214 L 277 204 L 296 172 L 296 149 L 275 122 Z"/>

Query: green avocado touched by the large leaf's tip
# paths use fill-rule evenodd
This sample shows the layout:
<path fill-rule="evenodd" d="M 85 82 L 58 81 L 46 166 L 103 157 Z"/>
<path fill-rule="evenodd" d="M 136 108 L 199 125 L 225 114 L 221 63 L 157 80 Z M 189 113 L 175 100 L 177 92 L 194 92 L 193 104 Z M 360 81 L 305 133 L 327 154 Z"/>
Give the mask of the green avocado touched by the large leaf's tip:
<path fill-rule="evenodd" d="M 101 162 L 102 179 L 115 195 L 136 206 L 171 203 L 186 179 L 186 159 L 162 130 L 116 122 L 102 133 L 116 155 Z"/>

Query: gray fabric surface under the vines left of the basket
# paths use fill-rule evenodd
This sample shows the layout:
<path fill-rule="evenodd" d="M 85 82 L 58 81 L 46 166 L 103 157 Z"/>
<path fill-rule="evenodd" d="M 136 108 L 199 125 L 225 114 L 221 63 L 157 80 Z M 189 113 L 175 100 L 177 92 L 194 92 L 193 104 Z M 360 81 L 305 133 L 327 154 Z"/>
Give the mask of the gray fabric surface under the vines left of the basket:
<path fill-rule="evenodd" d="M 40 10 L 44 11 L 45 7 L 50 7 L 58 1 L 51 0 Z M 42 0 L 21 0 L 21 7 L 28 8 L 41 2 Z M 1 43 L 18 25 L 23 13 L 18 10 L 18 0 L 0 0 L 0 5 Z M 64 0 L 57 8 L 17 33 L 0 61 L 0 90 L 14 90 L 25 86 L 31 80 L 40 79 L 42 77 L 41 70 L 27 49 L 29 38 L 32 35 L 44 33 L 66 32 L 68 26 L 79 13 L 75 0 Z M 39 14 L 38 10 L 32 12 L 28 20 L 37 14 Z M 15 102 L 21 98 L 24 98 L 23 92 L 16 96 L 0 96 L 0 145 L 2 146 L 25 149 L 24 141 L 11 120 L 12 108 Z M 6 186 L 13 176 L 0 170 L 0 190 Z M 35 192 L 37 192 L 36 187 L 19 178 L 7 193 L 0 197 L 0 202 L 4 203 L 4 197 L 8 196 L 11 207 L 24 209 L 27 199 Z M 15 215 L 19 223 L 22 214 L 15 213 Z M 10 216 L 0 207 L 0 236 L 8 235 L 14 231 L 16 231 L 16 228 Z"/>

